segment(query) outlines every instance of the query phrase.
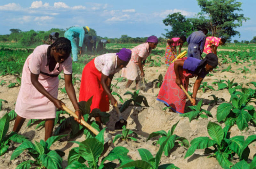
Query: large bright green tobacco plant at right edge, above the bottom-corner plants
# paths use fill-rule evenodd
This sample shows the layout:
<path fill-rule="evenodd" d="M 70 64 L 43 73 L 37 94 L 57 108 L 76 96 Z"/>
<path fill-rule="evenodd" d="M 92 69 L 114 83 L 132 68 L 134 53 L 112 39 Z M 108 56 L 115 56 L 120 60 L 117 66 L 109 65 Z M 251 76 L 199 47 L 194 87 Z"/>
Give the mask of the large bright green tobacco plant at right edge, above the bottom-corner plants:
<path fill-rule="evenodd" d="M 235 89 L 229 92 L 231 93 L 229 103 L 222 103 L 217 108 L 218 122 L 223 121 L 225 125 L 229 126 L 233 126 L 236 123 L 241 131 L 248 127 L 249 121 L 256 126 L 256 111 L 252 105 L 248 104 L 251 102 L 255 90 L 242 88 L 242 92 Z"/>

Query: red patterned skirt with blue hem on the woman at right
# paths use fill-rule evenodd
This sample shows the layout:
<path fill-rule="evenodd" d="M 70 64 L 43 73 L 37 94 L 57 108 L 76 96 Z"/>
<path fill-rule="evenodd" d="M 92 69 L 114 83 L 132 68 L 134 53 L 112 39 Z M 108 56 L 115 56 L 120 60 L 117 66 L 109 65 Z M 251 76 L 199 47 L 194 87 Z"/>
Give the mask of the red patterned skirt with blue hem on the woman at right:
<path fill-rule="evenodd" d="M 178 60 L 186 60 L 187 58 L 181 58 Z M 187 73 L 187 71 L 180 69 L 180 80 L 183 87 L 188 91 L 188 81 L 190 77 L 194 77 L 193 74 Z M 172 63 L 164 76 L 164 81 L 157 95 L 157 99 L 163 102 L 167 106 L 171 106 L 172 110 L 178 113 L 184 113 L 186 104 L 185 92 L 176 84 L 176 75 L 174 72 L 174 63 Z"/>

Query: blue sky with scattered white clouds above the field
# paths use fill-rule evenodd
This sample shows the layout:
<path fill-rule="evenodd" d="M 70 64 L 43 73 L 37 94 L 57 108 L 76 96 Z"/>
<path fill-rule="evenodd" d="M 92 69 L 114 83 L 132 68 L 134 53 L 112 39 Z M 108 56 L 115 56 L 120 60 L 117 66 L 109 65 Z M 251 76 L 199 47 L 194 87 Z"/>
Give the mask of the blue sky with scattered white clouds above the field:
<path fill-rule="evenodd" d="M 235 29 L 241 37 L 236 35 L 232 40 L 250 41 L 256 36 L 256 0 L 238 1 L 243 3 L 243 11 L 237 13 L 243 13 L 250 20 Z M 171 29 L 163 24 L 168 14 L 181 12 L 192 18 L 200 11 L 196 0 L 2 0 L 0 35 L 10 34 L 12 28 L 48 31 L 51 28 L 89 26 L 102 37 L 163 37 L 164 29 Z"/>

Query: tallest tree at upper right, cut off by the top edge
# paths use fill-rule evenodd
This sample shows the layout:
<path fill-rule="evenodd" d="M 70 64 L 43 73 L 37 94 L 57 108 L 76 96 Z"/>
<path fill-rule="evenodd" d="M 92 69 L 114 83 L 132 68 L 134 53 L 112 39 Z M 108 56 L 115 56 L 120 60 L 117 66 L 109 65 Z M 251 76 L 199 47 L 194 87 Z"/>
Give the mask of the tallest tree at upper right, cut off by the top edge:
<path fill-rule="evenodd" d="M 235 13 L 242 11 L 240 8 L 242 3 L 236 0 L 197 0 L 198 5 L 202 9 L 200 15 L 208 15 L 212 36 L 223 37 L 228 40 L 232 36 L 240 33 L 234 30 L 241 27 L 242 22 L 250 18 L 245 18 L 244 14 Z"/>

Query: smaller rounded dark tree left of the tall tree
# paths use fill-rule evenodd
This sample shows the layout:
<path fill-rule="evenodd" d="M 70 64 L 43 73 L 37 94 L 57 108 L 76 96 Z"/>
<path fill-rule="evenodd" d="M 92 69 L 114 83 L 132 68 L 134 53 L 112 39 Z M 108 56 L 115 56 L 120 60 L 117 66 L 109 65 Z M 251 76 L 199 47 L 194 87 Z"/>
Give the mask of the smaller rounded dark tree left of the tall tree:
<path fill-rule="evenodd" d="M 172 13 L 163 20 L 165 26 L 171 26 L 172 30 L 164 29 L 167 31 L 164 35 L 166 38 L 180 37 L 181 35 L 190 35 L 193 30 L 193 26 L 185 16 L 181 15 L 180 12 Z"/>

